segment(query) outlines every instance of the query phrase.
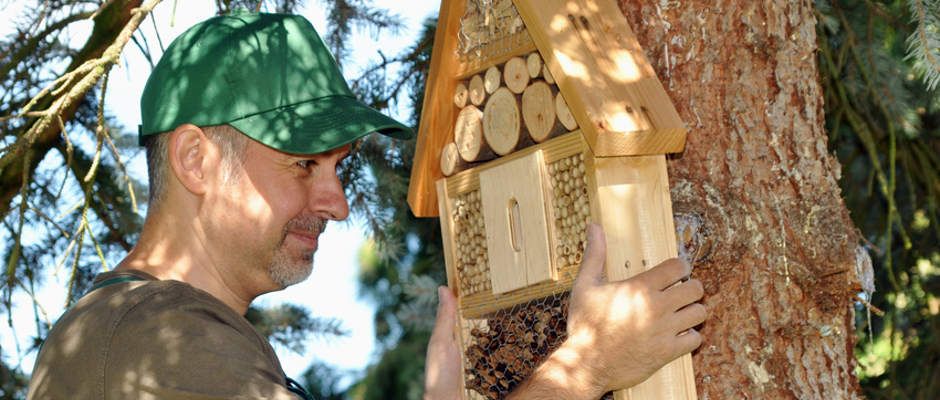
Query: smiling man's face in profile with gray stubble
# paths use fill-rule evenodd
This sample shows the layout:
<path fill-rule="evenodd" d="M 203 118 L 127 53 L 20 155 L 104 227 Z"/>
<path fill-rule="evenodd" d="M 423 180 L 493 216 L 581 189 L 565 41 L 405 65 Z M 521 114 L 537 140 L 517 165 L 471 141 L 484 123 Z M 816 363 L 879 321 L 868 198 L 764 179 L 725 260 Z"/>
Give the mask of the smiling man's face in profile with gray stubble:
<path fill-rule="evenodd" d="M 243 171 L 222 183 L 217 237 L 223 256 L 250 291 L 281 289 L 310 275 L 313 253 L 329 220 L 349 215 L 337 166 L 349 146 L 301 156 L 249 140 Z M 236 167 L 237 168 L 237 167 Z M 233 258 L 234 257 L 234 258 Z"/>

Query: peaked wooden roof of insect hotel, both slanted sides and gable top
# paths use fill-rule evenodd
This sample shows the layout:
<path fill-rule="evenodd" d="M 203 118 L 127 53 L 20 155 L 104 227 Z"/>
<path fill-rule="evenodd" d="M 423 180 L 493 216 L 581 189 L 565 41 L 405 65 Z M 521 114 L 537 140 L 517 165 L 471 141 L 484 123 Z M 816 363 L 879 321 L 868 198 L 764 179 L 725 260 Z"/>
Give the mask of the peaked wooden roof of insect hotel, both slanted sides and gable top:
<path fill-rule="evenodd" d="M 686 126 L 613 0 L 444 0 L 438 21 L 408 193 L 416 216 L 438 214 L 461 82 L 519 55 L 541 55 L 539 76 L 557 84 L 595 156 L 683 150 Z"/>

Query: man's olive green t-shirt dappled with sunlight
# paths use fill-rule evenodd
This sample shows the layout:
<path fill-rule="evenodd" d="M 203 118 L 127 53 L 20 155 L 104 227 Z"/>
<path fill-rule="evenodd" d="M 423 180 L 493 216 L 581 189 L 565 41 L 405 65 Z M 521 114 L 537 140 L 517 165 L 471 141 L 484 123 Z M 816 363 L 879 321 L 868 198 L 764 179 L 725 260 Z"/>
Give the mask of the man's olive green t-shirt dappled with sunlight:
<path fill-rule="evenodd" d="M 268 341 L 186 283 L 114 271 L 49 332 L 27 399 L 290 399 Z M 118 279 L 120 281 L 121 279 Z"/>

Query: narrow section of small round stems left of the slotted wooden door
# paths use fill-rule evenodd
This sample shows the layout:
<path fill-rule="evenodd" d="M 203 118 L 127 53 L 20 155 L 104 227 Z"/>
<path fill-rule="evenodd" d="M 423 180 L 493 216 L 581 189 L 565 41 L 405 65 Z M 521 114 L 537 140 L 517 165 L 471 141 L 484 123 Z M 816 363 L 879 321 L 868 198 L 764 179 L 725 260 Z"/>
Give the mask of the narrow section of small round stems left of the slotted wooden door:
<path fill-rule="evenodd" d="M 461 194 L 454 199 L 451 215 L 456 238 L 456 265 L 460 295 L 491 290 L 490 267 L 486 253 L 486 226 L 480 191 Z"/>

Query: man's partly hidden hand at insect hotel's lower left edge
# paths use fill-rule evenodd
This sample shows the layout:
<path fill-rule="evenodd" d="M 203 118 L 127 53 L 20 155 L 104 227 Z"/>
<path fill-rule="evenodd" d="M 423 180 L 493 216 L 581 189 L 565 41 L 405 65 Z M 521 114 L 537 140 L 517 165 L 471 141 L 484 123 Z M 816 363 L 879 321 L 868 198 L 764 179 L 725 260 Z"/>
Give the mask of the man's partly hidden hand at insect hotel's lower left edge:
<path fill-rule="evenodd" d="M 437 306 L 437 320 L 431 340 L 428 342 L 428 354 L 424 365 L 425 400 L 460 399 L 460 379 L 463 371 L 460 367 L 460 347 L 454 329 L 457 324 L 457 299 L 450 289 L 437 288 L 440 303 Z"/>

